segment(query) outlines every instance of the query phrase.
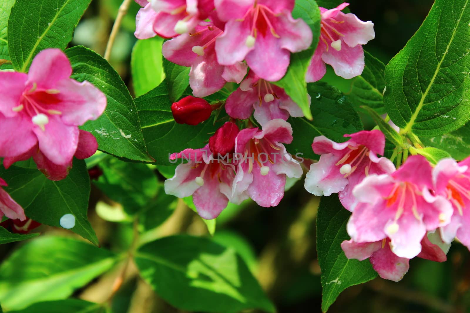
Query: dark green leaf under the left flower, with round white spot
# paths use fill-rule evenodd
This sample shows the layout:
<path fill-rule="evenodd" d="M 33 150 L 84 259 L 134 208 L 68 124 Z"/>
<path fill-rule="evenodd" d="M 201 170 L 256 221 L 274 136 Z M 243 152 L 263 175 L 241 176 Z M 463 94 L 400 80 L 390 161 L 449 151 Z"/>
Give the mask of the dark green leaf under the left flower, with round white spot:
<path fill-rule="evenodd" d="M 90 197 L 90 176 L 85 161 L 73 160 L 69 175 L 58 182 L 48 180 L 36 168 L 0 168 L 8 182 L 5 190 L 24 208 L 26 216 L 41 224 L 61 227 L 65 214 L 75 216 L 70 230 L 98 245 L 98 238 L 86 217 Z"/>

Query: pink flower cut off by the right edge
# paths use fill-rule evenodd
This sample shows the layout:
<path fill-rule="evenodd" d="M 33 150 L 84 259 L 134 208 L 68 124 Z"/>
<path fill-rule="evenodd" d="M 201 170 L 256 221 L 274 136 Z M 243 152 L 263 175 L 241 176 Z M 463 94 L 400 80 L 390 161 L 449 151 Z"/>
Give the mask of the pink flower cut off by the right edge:
<path fill-rule="evenodd" d="M 447 244 L 457 237 L 470 249 L 470 158 L 459 163 L 440 160 L 433 171 L 435 191 L 446 197 L 454 207 L 451 222 L 440 229 Z"/>

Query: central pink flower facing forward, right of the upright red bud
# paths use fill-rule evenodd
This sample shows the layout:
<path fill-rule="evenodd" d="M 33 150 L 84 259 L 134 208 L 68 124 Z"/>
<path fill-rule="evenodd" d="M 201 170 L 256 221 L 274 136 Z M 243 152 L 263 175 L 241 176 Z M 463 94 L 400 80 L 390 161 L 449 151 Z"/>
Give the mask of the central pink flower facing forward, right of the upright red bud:
<path fill-rule="evenodd" d="M 277 206 L 284 197 L 287 177 L 300 178 L 302 168 L 282 143 L 292 142 L 292 127 L 276 119 L 263 130 L 241 130 L 235 139 L 235 153 L 242 156 L 235 176 L 234 190 L 246 191 L 260 206 Z"/>

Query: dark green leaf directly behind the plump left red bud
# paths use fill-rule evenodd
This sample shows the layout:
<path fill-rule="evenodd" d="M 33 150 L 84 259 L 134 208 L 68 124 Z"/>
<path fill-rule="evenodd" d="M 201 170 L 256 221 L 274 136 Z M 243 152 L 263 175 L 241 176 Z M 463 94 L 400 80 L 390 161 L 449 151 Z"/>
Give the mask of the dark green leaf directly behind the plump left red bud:
<path fill-rule="evenodd" d="M 136 98 L 135 104 L 141 117 L 145 142 L 156 165 L 172 165 L 169 160 L 171 153 L 178 153 L 186 148 L 203 148 L 211 136 L 209 134 L 223 124 L 218 122 L 214 125 L 212 118 L 196 126 L 176 123 L 164 82 Z M 173 163 L 176 164 L 174 161 Z"/>

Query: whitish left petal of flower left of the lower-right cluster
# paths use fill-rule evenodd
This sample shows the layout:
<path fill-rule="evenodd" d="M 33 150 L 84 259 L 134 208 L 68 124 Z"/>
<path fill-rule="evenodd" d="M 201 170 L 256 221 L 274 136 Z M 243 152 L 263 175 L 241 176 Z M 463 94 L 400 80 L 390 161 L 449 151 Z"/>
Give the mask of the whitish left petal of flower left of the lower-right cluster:
<path fill-rule="evenodd" d="M 330 196 L 332 193 L 343 191 L 348 180 L 335 166 L 337 161 L 338 158 L 333 154 L 321 155 L 320 160 L 310 166 L 305 176 L 306 191 L 315 196 Z"/>

